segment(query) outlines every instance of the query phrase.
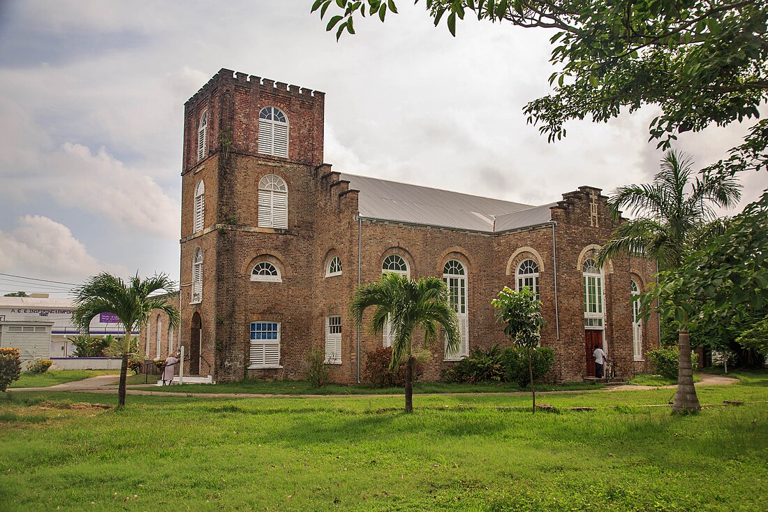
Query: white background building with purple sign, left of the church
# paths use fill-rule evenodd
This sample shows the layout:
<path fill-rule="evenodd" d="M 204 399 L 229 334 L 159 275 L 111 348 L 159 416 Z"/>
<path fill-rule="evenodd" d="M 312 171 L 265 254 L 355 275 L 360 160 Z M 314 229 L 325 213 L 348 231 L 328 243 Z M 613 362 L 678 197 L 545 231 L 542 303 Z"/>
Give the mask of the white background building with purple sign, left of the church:
<path fill-rule="evenodd" d="M 36 357 L 68 357 L 74 347 L 68 337 L 80 331 L 72 323 L 74 304 L 68 298 L 0 297 L 0 347 L 22 351 L 22 360 Z M 124 336 L 125 328 L 111 313 L 91 321 L 91 336 Z M 137 336 L 139 331 L 131 334 Z"/>

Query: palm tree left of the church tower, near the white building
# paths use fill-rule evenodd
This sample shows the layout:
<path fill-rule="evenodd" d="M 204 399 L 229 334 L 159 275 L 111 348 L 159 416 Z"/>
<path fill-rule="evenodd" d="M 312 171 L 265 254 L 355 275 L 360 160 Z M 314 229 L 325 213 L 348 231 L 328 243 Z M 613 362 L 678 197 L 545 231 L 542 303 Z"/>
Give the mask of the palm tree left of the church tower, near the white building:
<path fill-rule="evenodd" d="M 82 333 L 88 334 L 91 320 L 99 313 L 115 314 L 125 327 L 125 337 L 119 351 L 123 362 L 120 367 L 118 407 L 125 405 L 125 379 L 128 356 L 131 354 L 131 331 L 141 330 L 149 321 L 154 309 L 167 314 L 169 330 L 179 325 L 179 311 L 173 305 L 166 304 L 164 296 L 150 297 L 156 291 L 172 293 L 174 285 L 174 281 L 170 281 L 167 274 L 141 279 L 137 273 L 126 284 L 121 278 L 101 272 L 74 290 L 75 308 L 72 321 Z"/>

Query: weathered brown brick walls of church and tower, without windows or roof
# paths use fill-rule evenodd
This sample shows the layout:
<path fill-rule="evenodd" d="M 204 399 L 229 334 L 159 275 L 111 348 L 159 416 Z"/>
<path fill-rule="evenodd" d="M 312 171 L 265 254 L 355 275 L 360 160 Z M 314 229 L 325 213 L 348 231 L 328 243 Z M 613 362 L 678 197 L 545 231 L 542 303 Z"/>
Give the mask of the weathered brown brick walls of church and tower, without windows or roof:
<path fill-rule="evenodd" d="M 290 120 L 288 158 L 259 152 L 259 112 L 268 106 L 280 108 Z M 198 160 L 198 122 L 206 110 L 207 151 Z M 326 317 L 339 314 L 342 356 L 341 364 L 333 365 L 333 379 L 358 381 L 366 353 L 381 346 L 382 339 L 366 329 L 358 333 L 349 318 L 349 298 L 359 282 L 381 276 L 386 256 L 399 254 L 412 278 L 442 277 L 451 259 L 464 264 L 469 344 L 480 347 L 508 344 L 490 301 L 504 285 L 515 288 L 520 261 L 537 261 L 548 322 L 541 344 L 555 352 L 551 380 L 580 381 L 587 371 L 581 264 L 616 225 L 600 190 L 581 187 L 564 194 L 551 207 L 551 221 L 513 231 L 485 233 L 362 218 L 359 191 L 323 163 L 323 115 L 322 92 L 226 69 L 187 101 L 180 334 L 187 354 L 197 357 L 199 346 L 200 367 L 194 370 L 212 374 L 216 381 L 303 378 L 306 353 L 325 346 Z M 278 175 L 287 184 L 286 229 L 258 227 L 258 184 L 265 175 Z M 204 228 L 195 233 L 194 194 L 200 180 L 205 187 Z M 193 303 L 198 248 L 204 255 L 203 290 L 201 301 Z M 326 278 L 334 256 L 343 272 Z M 261 261 L 275 265 L 282 282 L 251 281 L 251 271 Z M 631 275 L 644 286 L 654 266 L 627 256 L 611 261 L 603 272 L 602 337 L 626 376 L 644 367 L 633 354 Z M 280 364 L 249 369 L 250 324 L 257 321 L 279 322 Z M 642 331 L 644 353 L 658 344 L 656 319 L 644 323 Z M 442 345 L 432 353 L 424 378 L 437 380 L 453 363 L 443 361 Z"/>

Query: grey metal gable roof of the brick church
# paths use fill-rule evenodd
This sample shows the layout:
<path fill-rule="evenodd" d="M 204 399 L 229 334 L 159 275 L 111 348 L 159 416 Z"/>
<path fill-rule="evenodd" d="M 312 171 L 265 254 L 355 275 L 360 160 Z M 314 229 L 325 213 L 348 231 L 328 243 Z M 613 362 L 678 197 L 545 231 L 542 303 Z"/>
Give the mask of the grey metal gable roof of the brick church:
<path fill-rule="evenodd" d="M 340 178 L 359 191 L 360 217 L 382 221 L 494 233 L 547 222 L 552 205 L 533 206 L 346 173 Z"/>

